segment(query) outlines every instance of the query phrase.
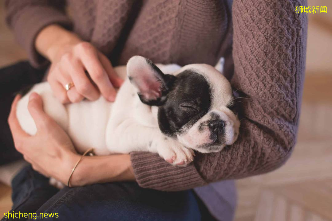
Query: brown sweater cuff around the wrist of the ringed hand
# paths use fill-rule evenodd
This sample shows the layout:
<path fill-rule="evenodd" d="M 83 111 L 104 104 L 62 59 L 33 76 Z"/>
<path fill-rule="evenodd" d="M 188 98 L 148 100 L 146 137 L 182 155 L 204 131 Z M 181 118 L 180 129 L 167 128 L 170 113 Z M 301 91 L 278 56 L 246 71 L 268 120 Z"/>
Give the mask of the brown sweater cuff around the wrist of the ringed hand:
<path fill-rule="evenodd" d="M 71 21 L 60 11 L 40 5 L 23 8 L 17 16 L 13 24 L 16 38 L 28 53 L 31 65 L 40 68 L 47 63 L 47 60 L 36 50 L 35 39 L 38 33 L 50 24 L 71 28 Z"/>

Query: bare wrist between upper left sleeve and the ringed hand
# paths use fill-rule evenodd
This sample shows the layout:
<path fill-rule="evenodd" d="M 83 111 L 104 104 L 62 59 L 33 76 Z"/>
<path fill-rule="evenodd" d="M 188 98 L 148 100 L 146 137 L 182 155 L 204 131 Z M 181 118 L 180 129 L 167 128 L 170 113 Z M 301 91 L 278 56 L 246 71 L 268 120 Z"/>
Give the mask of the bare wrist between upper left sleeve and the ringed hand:
<path fill-rule="evenodd" d="M 59 25 L 49 25 L 43 28 L 36 37 L 37 51 L 52 61 L 55 55 L 66 45 L 77 44 L 82 40 L 73 32 Z"/>

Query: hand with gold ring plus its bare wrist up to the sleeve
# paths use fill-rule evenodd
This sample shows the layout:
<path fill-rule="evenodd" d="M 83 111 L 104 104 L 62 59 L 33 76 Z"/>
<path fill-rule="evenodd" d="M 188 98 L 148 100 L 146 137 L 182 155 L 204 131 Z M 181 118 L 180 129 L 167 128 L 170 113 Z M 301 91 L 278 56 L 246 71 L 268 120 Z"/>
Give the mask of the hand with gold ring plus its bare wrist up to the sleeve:
<path fill-rule="evenodd" d="M 60 102 L 96 100 L 99 93 L 109 101 L 115 100 L 115 88 L 123 80 L 108 58 L 89 42 L 60 26 L 50 25 L 37 36 L 36 48 L 51 61 L 47 81 Z M 68 83 L 74 86 L 66 91 Z"/>

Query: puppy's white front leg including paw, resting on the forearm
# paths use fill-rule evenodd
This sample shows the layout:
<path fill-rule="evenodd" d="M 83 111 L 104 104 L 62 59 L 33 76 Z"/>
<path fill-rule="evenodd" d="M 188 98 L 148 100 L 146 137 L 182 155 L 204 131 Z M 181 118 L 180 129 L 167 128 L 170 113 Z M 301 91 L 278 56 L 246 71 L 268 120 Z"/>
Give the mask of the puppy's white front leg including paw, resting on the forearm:
<path fill-rule="evenodd" d="M 186 148 L 174 138 L 166 137 L 159 128 L 140 125 L 133 119 L 109 127 L 106 137 L 107 147 L 112 152 L 155 152 L 174 165 L 186 165 L 193 161 L 192 149 Z"/>

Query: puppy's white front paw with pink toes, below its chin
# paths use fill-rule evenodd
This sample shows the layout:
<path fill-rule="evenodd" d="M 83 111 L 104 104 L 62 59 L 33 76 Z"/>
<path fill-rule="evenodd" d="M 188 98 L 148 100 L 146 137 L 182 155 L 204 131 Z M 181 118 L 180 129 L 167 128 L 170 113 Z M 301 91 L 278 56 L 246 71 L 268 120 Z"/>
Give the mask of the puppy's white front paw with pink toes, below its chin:
<path fill-rule="evenodd" d="M 171 138 L 168 138 L 171 139 Z M 178 166 L 187 166 L 194 160 L 195 153 L 192 149 L 184 147 L 177 141 L 164 142 L 164 145 L 160 145 L 158 153 L 167 162 Z"/>

